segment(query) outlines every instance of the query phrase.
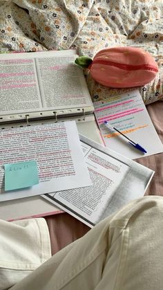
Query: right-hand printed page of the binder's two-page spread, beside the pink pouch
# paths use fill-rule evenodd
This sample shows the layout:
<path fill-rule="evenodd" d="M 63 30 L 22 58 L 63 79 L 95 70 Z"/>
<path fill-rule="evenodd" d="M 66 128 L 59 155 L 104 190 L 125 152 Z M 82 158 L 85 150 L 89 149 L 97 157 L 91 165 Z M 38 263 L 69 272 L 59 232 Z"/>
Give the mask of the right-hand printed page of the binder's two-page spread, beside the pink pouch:
<path fill-rule="evenodd" d="M 71 57 L 39 57 L 37 72 L 43 106 L 66 109 L 91 106 L 82 70 Z"/>

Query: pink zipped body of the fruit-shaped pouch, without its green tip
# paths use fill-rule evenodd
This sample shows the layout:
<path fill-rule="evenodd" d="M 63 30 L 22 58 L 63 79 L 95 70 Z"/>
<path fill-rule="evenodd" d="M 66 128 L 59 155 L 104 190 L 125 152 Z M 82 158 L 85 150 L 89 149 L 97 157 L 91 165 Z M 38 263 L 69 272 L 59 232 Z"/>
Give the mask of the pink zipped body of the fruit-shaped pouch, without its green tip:
<path fill-rule="evenodd" d="M 99 51 L 89 66 L 90 75 L 106 87 L 140 87 L 158 72 L 154 57 L 142 48 L 113 47 Z"/>

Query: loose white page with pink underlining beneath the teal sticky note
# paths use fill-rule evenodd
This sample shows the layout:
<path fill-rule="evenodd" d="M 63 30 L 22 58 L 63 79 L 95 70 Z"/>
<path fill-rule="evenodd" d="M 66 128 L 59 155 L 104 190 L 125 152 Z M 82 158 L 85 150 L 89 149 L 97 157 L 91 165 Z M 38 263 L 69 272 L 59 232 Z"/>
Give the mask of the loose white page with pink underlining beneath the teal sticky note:
<path fill-rule="evenodd" d="M 0 131 L 0 201 L 92 185 L 75 121 Z M 4 191 L 4 165 L 37 162 L 39 184 Z"/>

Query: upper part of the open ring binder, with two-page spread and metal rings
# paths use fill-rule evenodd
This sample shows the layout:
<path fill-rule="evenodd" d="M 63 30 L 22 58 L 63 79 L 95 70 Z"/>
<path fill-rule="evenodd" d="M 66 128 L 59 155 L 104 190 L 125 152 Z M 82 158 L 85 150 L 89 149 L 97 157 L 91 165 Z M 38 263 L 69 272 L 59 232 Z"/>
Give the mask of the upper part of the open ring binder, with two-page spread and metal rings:
<path fill-rule="evenodd" d="M 0 55 L 0 126 L 76 120 L 79 132 L 102 142 L 75 50 Z"/>

